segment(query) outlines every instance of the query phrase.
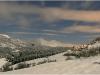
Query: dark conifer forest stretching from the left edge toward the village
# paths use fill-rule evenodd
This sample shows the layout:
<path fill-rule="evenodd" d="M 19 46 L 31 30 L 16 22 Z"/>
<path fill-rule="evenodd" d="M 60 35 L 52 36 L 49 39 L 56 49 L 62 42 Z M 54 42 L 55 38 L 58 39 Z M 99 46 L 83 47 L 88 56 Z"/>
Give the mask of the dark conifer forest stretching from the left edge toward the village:
<path fill-rule="evenodd" d="M 68 47 L 46 47 L 30 46 L 19 48 L 19 52 L 13 52 L 11 48 L 0 48 L 0 56 L 5 57 L 12 64 L 33 60 L 37 58 L 49 57 L 67 51 Z"/>

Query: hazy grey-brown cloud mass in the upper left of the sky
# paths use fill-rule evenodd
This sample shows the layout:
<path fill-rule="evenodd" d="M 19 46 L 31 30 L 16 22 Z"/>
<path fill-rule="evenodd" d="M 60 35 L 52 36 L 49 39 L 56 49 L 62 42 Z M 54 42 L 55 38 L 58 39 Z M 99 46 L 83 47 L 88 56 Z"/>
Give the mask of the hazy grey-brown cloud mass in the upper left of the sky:
<path fill-rule="evenodd" d="M 28 26 L 39 20 L 38 17 L 36 19 L 35 17 L 27 17 L 29 14 L 35 14 L 36 8 L 34 5 L 31 7 L 31 5 L 17 2 L 1 2 L 0 22 L 6 25 L 9 23 L 14 25 L 15 23 L 20 26 Z"/>

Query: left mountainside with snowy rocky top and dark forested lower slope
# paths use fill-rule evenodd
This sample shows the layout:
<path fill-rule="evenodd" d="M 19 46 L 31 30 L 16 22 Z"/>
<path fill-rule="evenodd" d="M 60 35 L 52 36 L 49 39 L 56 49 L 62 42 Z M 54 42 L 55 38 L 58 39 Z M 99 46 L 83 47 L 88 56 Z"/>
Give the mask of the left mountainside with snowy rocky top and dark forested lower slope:
<path fill-rule="evenodd" d="M 69 47 L 51 47 L 27 43 L 19 39 L 12 39 L 6 34 L 0 34 L 0 58 L 6 58 L 12 64 L 48 57 L 68 49 Z"/>

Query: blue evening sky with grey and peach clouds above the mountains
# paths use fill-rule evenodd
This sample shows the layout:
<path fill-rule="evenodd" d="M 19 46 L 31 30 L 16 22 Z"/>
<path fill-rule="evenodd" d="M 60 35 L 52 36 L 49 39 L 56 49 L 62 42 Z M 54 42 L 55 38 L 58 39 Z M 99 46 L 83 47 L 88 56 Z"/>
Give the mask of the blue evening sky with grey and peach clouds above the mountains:
<path fill-rule="evenodd" d="M 0 34 L 31 43 L 86 44 L 100 36 L 100 1 L 1 1 Z"/>

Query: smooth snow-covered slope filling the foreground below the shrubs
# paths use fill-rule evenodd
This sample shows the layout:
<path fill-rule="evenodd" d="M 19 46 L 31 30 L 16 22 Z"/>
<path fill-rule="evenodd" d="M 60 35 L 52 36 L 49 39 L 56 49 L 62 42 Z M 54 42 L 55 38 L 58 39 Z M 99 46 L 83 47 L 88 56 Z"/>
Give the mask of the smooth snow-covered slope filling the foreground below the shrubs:
<path fill-rule="evenodd" d="M 51 56 L 49 59 L 57 59 L 58 62 L 45 63 L 30 68 L 24 68 L 14 71 L 1 72 L 1 74 L 100 74 L 100 56 L 89 57 L 84 59 L 75 59 L 65 61 L 64 53 Z M 28 63 L 42 61 L 36 59 L 27 61 Z"/>

